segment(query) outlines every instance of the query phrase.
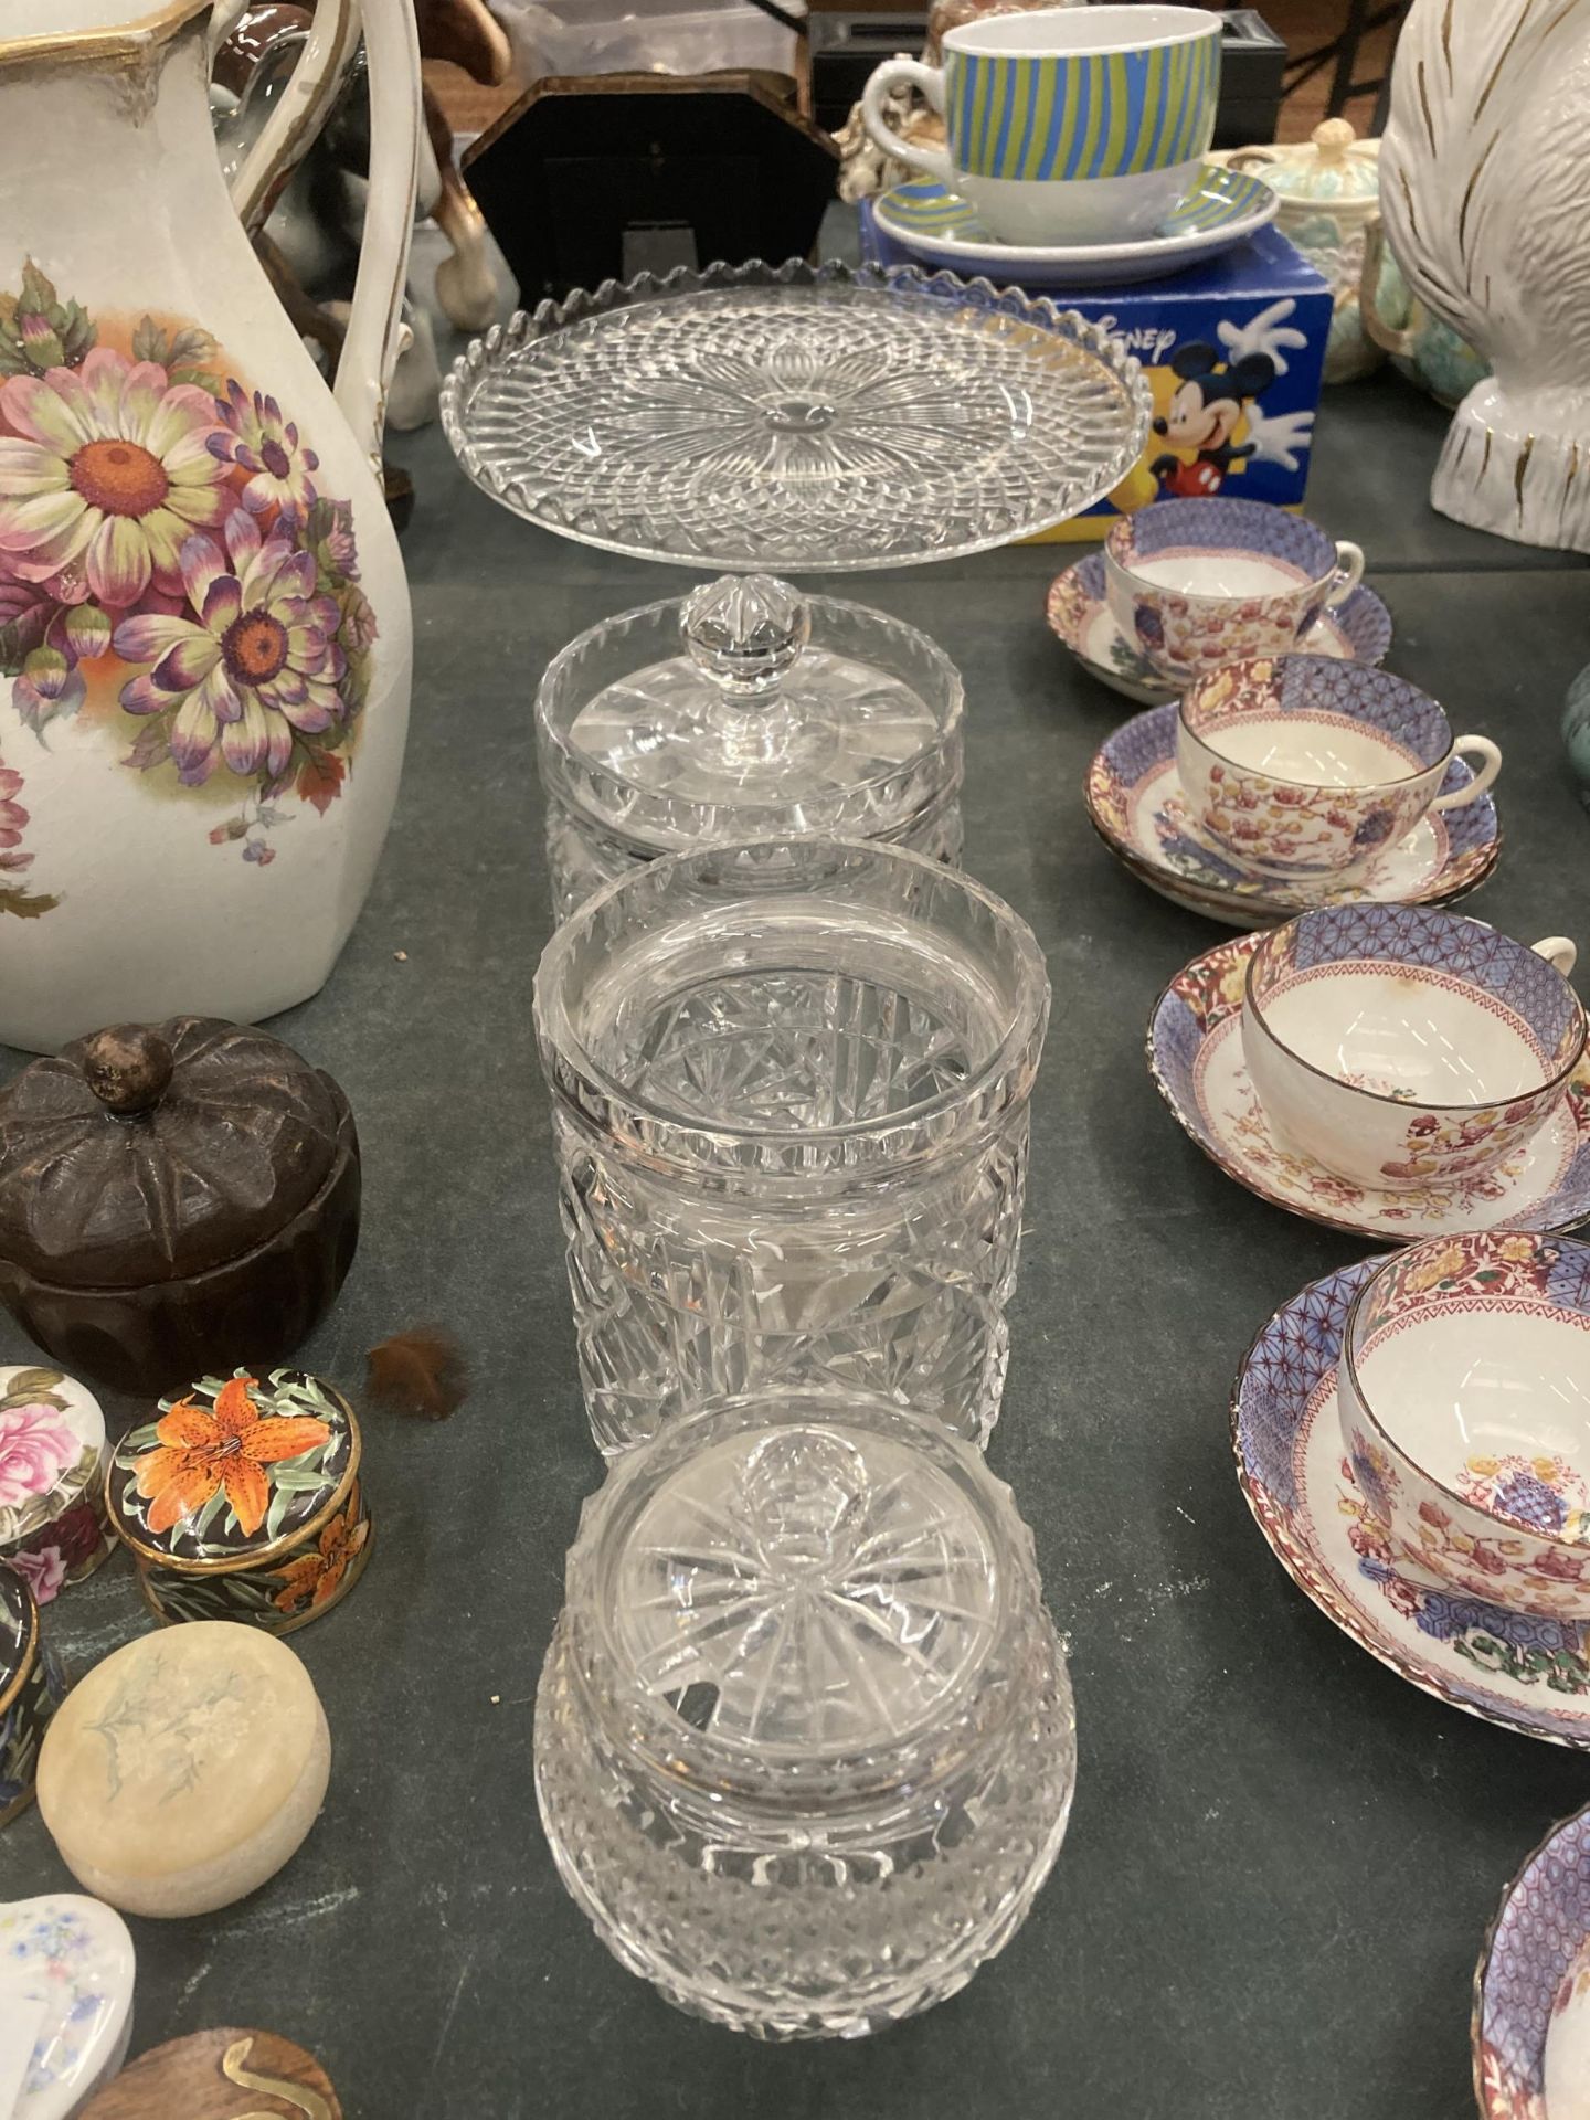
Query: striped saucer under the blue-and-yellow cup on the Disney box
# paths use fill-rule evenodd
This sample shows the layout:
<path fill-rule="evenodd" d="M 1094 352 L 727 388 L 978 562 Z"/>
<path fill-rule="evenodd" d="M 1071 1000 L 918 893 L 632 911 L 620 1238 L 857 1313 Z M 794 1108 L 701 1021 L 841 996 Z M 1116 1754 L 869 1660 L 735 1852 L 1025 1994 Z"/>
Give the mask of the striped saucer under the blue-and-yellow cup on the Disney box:
<path fill-rule="evenodd" d="M 912 257 L 973 278 L 988 273 L 996 286 L 1119 286 L 1181 271 L 1247 242 L 1274 220 L 1278 206 L 1257 176 L 1204 163 L 1162 231 L 1126 244 L 1001 242 L 958 193 L 931 178 L 895 184 L 873 201 L 873 216 Z"/>

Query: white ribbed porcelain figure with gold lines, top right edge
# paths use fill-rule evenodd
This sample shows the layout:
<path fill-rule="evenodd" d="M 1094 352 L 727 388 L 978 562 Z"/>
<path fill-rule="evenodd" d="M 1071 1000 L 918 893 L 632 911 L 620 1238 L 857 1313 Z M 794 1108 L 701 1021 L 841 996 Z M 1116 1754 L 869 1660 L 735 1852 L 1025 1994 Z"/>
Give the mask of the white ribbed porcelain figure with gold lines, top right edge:
<path fill-rule="evenodd" d="M 1444 515 L 1590 551 L 1590 0 L 1414 0 L 1380 151 L 1386 237 L 1495 373 L 1435 471 Z"/>

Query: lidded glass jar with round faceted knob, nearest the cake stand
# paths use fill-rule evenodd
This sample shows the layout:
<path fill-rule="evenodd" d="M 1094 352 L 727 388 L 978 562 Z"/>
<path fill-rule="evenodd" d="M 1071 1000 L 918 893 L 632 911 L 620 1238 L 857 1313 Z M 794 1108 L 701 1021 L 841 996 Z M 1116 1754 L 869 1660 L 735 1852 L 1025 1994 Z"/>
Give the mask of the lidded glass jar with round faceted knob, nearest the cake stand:
<path fill-rule="evenodd" d="M 738 840 L 958 861 L 960 714 L 960 674 L 926 634 L 770 575 L 606 619 L 536 693 L 553 912 L 659 854 Z"/>

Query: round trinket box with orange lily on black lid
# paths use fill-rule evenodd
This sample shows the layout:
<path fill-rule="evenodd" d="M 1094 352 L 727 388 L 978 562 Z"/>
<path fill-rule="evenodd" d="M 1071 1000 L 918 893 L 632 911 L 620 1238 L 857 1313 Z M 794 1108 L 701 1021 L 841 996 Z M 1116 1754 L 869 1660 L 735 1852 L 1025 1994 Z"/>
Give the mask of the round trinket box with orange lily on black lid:
<path fill-rule="evenodd" d="M 354 1410 L 303 1370 L 204 1376 L 110 1459 L 110 1524 L 155 1615 L 290 1635 L 354 1588 L 371 1550 Z"/>

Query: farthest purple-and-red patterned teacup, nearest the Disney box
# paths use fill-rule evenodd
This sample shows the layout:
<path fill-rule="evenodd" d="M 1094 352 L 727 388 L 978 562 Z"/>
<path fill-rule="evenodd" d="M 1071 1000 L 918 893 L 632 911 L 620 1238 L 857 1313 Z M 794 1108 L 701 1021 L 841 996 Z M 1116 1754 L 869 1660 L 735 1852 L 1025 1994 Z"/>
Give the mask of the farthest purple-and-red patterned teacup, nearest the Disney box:
<path fill-rule="evenodd" d="M 1155 500 L 1105 538 L 1121 638 L 1179 683 L 1247 655 L 1285 655 L 1361 579 L 1357 545 L 1264 500 Z"/>

